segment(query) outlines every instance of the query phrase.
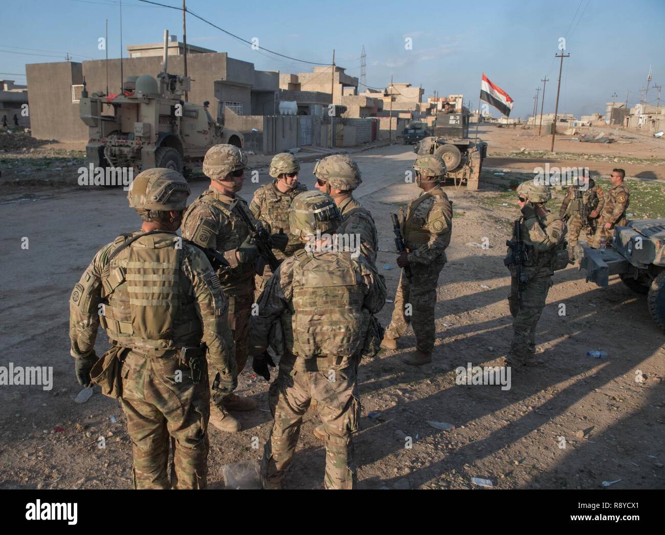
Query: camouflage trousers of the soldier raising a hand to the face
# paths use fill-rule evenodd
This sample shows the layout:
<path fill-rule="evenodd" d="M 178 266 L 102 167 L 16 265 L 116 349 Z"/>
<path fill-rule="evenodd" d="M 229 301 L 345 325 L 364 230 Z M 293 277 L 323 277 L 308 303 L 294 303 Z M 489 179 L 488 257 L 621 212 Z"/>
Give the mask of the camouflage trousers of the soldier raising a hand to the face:
<path fill-rule="evenodd" d="M 533 361 L 536 325 L 545 308 L 551 286 L 552 277 L 549 275 L 529 280 L 522 289 L 522 308 L 519 308 L 517 277 L 511 277 L 508 305 L 513 316 L 513 344 L 508 360 L 517 366 Z"/>

